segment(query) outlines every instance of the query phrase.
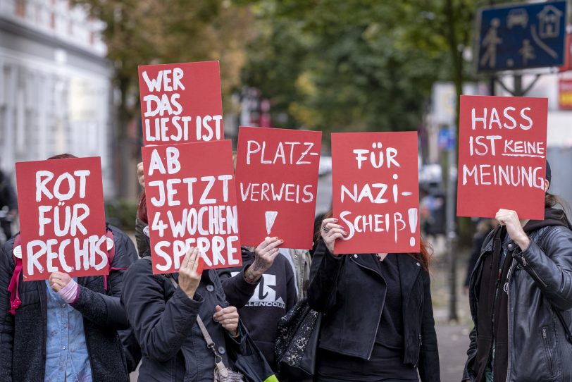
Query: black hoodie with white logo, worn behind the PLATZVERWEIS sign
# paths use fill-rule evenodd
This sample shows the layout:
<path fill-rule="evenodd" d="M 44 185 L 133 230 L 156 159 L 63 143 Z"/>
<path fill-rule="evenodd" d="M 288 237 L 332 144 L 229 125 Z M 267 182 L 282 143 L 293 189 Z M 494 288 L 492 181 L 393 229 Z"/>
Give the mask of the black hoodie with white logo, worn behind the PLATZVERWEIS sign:
<path fill-rule="evenodd" d="M 253 261 L 254 253 L 243 247 L 242 264 L 252 264 Z M 242 268 L 231 270 L 234 274 L 235 271 L 242 271 Z M 296 300 L 294 271 L 290 261 L 278 254 L 270 269 L 262 275 L 254 295 L 238 310 L 244 326 L 273 370 L 276 369 L 274 343 L 278 320 L 294 307 Z"/>

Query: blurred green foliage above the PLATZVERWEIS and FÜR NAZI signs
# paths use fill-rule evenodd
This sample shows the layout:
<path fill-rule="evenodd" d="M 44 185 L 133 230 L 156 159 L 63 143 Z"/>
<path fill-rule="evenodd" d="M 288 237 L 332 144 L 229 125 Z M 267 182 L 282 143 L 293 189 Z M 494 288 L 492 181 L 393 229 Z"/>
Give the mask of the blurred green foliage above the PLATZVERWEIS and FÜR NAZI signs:
<path fill-rule="evenodd" d="M 280 127 L 415 130 L 433 82 L 468 77 L 475 3 L 259 1 L 243 81 Z"/>

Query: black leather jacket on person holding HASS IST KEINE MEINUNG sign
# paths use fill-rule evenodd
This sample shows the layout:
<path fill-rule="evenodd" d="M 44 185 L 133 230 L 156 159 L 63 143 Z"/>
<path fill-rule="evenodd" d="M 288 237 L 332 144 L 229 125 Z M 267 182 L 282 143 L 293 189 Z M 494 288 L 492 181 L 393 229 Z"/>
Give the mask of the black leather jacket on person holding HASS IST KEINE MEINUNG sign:
<path fill-rule="evenodd" d="M 507 382 L 572 381 L 572 344 L 566 339 L 572 322 L 572 231 L 545 226 L 530 234 L 525 251 L 515 248 L 508 280 L 509 364 Z M 469 304 L 477 325 L 478 288 L 483 257 L 492 252 L 492 235 L 483 244 L 471 276 Z M 471 331 L 463 380 L 475 381 L 478 333 Z"/>

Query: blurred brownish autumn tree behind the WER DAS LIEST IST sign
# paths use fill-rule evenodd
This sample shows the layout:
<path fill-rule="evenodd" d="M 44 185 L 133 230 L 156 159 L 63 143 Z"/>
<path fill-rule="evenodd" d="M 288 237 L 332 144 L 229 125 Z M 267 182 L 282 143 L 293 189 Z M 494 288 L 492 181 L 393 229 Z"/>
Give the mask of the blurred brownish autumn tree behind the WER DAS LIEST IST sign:
<path fill-rule="evenodd" d="M 139 142 L 127 134 L 128 124 L 140 113 L 137 66 L 220 60 L 223 100 L 230 100 L 246 60 L 251 13 L 231 0 L 75 0 L 75 4 L 105 24 L 104 41 L 119 90 L 116 151 L 119 190 L 125 197 L 130 183 L 136 182 L 133 163 L 139 152 Z"/>

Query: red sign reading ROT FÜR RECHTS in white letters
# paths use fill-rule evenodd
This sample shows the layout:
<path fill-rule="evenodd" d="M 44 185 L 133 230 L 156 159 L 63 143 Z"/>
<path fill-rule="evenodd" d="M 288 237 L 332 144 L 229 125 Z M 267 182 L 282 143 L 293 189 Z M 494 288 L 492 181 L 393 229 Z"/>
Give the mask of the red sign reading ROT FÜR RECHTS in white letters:
<path fill-rule="evenodd" d="M 24 279 L 106 275 L 99 157 L 20 162 L 16 182 Z"/>

